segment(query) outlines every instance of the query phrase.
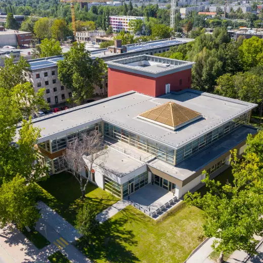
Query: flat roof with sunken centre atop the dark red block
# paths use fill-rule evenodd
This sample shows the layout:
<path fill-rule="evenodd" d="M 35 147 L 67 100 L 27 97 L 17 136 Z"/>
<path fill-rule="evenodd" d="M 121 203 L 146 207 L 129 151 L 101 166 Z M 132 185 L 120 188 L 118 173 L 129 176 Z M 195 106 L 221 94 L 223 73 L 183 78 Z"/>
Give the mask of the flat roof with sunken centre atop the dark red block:
<path fill-rule="evenodd" d="M 106 62 L 109 68 L 124 70 L 150 77 L 160 77 L 192 68 L 195 62 L 139 55 Z"/>

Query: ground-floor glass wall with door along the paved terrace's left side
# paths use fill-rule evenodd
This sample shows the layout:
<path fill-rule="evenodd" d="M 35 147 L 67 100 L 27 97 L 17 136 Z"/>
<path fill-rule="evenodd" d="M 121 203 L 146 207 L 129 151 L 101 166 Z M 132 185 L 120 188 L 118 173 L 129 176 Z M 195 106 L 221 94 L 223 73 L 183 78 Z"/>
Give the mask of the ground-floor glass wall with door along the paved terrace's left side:
<path fill-rule="evenodd" d="M 128 182 L 122 185 L 123 198 L 125 196 L 128 196 L 129 194 L 132 194 L 133 192 L 136 192 L 137 190 L 146 186 L 147 184 L 148 184 L 148 171 L 145 171 L 139 174 L 139 176 L 130 179 Z"/>

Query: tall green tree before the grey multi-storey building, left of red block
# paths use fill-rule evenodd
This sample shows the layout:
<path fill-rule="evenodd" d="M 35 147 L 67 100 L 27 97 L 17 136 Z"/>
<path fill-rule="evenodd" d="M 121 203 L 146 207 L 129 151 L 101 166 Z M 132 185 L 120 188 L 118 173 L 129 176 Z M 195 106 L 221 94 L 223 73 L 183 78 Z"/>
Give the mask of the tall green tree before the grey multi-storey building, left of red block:
<path fill-rule="evenodd" d="M 100 85 L 105 73 L 102 59 L 92 59 L 83 43 L 73 43 L 64 60 L 58 61 L 58 77 L 72 91 L 76 102 L 92 97 L 94 84 Z"/>

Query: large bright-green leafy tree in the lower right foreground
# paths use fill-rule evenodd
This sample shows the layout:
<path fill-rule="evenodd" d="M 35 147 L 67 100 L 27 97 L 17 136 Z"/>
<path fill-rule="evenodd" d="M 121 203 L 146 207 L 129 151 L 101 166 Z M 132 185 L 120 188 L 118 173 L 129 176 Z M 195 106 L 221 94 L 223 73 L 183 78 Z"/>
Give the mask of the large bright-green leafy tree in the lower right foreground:
<path fill-rule="evenodd" d="M 262 236 L 263 211 L 262 198 L 262 131 L 247 138 L 248 148 L 244 160 L 239 161 L 237 150 L 232 152 L 231 165 L 234 182 L 222 185 L 209 180 L 206 176 L 203 183 L 209 189 L 204 196 L 200 193 L 185 195 L 188 205 L 195 205 L 205 212 L 203 230 L 207 237 L 215 237 L 212 248 L 221 252 L 217 262 L 223 262 L 223 255 L 234 250 L 244 250 L 254 254 L 257 241 L 253 235 Z M 253 143 L 253 141 L 256 143 Z M 258 147 L 259 148 L 256 148 Z M 258 156 L 257 153 L 260 152 Z M 203 174 L 206 172 L 203 171 Z"/>

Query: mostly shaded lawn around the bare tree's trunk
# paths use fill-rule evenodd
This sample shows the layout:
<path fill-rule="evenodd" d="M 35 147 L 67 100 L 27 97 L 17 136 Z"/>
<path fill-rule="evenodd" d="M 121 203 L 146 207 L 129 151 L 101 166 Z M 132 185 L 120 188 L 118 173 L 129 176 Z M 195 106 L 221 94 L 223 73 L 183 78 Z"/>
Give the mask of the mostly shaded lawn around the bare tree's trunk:
<path fill-rule="evenodd" d="M 38 185 L 42 190 L 39 200 L 56 210 L 72 225 L 74 225 L 77 210 L 83 203 L 89 203 L 92 209 L 100 213 L 119 200 L 89 183 L 86 187 L 86 198 L 83 201 L 78 182 L 66 172 L 54 174 L 46 181 L 39 182 Z"/>

